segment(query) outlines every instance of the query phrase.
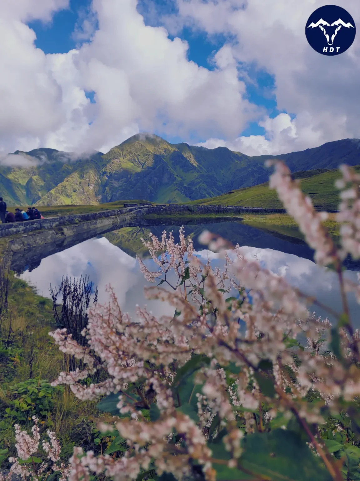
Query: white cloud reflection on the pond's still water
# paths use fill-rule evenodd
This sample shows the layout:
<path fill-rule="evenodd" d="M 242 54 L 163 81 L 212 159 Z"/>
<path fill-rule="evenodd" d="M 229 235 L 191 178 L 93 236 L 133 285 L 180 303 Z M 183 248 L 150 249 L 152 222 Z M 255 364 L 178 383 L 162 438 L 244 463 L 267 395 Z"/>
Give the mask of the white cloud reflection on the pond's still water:
<path fill-rule="evenodd" d="M 241 252 L 247 259 L 257 259 L 263 267 L 279 276 L 284 276 L 291 285 L 315 296 L 323 304 L 334 310 L 341 309 L 337 277 L 328 269 L 317 266 L 308 259 L 273 249 L 245 246 L 241 247 Z M 229 252 L 229 254 L 231 257 L 232 253 Z M 221 267 L 224 264 L 218 254 L 207 250 L 199 251 L 197 255 L 204 260 L 209 256 L 213 266 Z M 144 263 L 149 270 L 157 270 L 157 266 L 151 259 L 144 260 Z M 20 277 L 34 285 L 39 294 L 48 297 L 50 283 L 58 286 L 62 276 L 66 275 L 71 277 L 88 275 L 90 280 L 98 286 L 100 304 L 107 302 L 106 286 L 110 284 L 118 297 L 122 310 L 131 315 L 134 314 L 136 304 L 140 306 L 146 304 L 148 310 L 152 311 L 155 316 L 174 313 L 173 307 L 168 304 L 145 299 L 144 287 L 154 284 L 149 284 L 144 279 L 138 263 L 133 257 L 111 244 L 104 237 L 91 239 L 60 253 L 50 255 L 43 259 L 40 266 L 32 272 L 26 271 Z M 356 272 L 346 271 L 345 276 L 356 282 Z M 349 304 L 354 326 L 360 327 L 357 319 L 359 305 L 354 296 L 349 297 Z M 319 308 L 313 310 L 319 315 L 325 315 Z"/>

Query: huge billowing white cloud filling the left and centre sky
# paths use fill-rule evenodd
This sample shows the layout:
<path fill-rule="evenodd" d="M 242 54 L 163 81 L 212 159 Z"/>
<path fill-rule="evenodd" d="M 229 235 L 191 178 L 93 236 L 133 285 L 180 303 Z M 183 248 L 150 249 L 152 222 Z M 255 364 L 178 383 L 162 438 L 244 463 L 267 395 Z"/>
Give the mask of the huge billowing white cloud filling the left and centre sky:
<path fill-rule="evenodd" d="M 164 27 L 146 26 L 134 0 L 94 0 L 99 29 L 65 54 L 44 55 L 34 47 L 34 32 L 20 21 L 26 12 L 24 6 L 2 30 L 9 45 L 0 59 L 5 151 L 15 150 L 20 138 L 60 150 L 106 151 L 139 130 L 157 128 L 184 138 L 192 131 L 236 137 L 261 113 L 244 99 L 234 62 L 219 60 L 216 71 L 189 62 L 188 44 L 169 39 Z M 85 91 L 95 91 L 95 104 Z"/>

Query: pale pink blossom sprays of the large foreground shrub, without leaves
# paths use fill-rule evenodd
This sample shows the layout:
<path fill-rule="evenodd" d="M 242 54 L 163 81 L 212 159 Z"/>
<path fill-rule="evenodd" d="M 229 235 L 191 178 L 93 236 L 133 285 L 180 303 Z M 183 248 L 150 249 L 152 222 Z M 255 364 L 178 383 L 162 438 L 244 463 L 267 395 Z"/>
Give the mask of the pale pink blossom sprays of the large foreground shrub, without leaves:
<path fill-rule="evenodd" d="M 348 182 L 359 180 L 346 169 L 343 173 Z M 257 262 L 244 259 L 239 246 L 235 247 L 236 256 L 231 260 L 226 249 L 232 246 L 227 241 L 209 232 L 203 233 L 201 241 L 224 255 L 226 267 L 221 272 L 212 269 L 209 260 L 205 265 L 200 262 L 183 228 L 178 244 L 172 232 L 167 238 L 164 231 L 160 240 L 150 234 L 151 241 L 144 241 L 144 245 L 159 268 L 150 272 L 138 259 L 140 268 L 150 282 L 161 278 L 170 290 L 150 287 L 146 295 L 169 303 L 180 315 L 156 319 L 138 307 L 136 319 L 132 320 L 121 312 L 109 289 L 108 305 L 97 305 L 89 311 L 89 323 L 83 332 L 88 348 L 78 345 L 65 330 L 50 333 L 64 353 L 76 355 L 87 366 L 83 371 L 60 373 L 54 383 L 70 385 L 72 392 L 83 400 L 118 393 L 120 413 L 129 414 L 127 418 L 119 418 L 114 426 L 126 439 L 129 446 L 126 453 L 114 459 L 108 455 L 96 457 L 92 451 L 83 453 L 81 448 L 74 448 L 70 481 L 89 480 L 91 473 L 101 472 L 116 479 L 133 480 L 150 462 L 155 463 L 158 474 L 169 471 L 181 480 L 191 474 L 193 459 L 202 465 L 206 480 L 215 481 L 214 460 L 207 441 L 216 416 L 219 426 L 212 436 L 216 437 L 222 428 L 227 430 L 223 442 L 230 453 L 228 466 L 234 468 L 241 455 L 244 431 L 264 430 L 264 424 L 278 412 L 295 414 L 305 427 L 308 422 L 324 421 L 320 405 L 308 403 L 304 399 L 306 393 L 316 390 L 324 404 L 334 411 L 340 409 L 343 399 L 352 400 L 360 395 L 359 364 L 356 364 L 360 362 L 360 335 L 352 330 L 346 301 L 346 291 L 356 289 L 344 281 L 341 274 L 345 252 L 358 252 L 355 241 L 359 240 L 359 206 L 354 201 L 354 192 L 343 195 L 343 199 L 354 202 L 340 209 L 339 218 L 350 225 L 351 233 L 342 230 L 345 250 L 339 252 L 323 225 L 326 215 L 315 212 L 311 200 L 302 194 L 288 168 L 280 162 L 275 164 L 270 187 L 277 190 L 288 213 L 299 223 L 315 250 L 316 261 L 323 266 L 336 265 L 347 313 L 345 322 L 342 318 L 344 328 L 339 330 L 340 349 L 352 368 L 348 369 L 334 354 L 324 352 L 331 323 L 310 316 L 308 305 L 314 300 Z M 168 278 L 170 271 L 175 274 L 175 285 Z M 239 291 L 241 302 L 240 297 L 227 299 L 231 288 Z M 251 291 L 251 299 L 247 291 Z M 245 324 L 244 329 L 240 329 L 239 319 Z M 307 336 L 308 344 L 304 350 L 298 349 L 299 362 L 295 363 L 293 354 L 300 333 Z M 209 360 L 195 377 L 195 383 L 201 386 L 201 393 L 196 395 L 199 421 L 176 407 L 179 399 L 173 387 L 177 372 L 194 354 Z M 96 358 L 101 362 L 97 363 Z M 265 367 L 259 367 L 261 361 L 266 361 L 265 366 L 271 362 L 270 374 Z M 104 370 L 108 378 L 90 386 L 81 383 L 96 369 Z M 263 392 L 260 380 L 264 374 L 271 375 L 274 395 Z M 128 389 L 133 384 L 135 391 Z M 156 421 L 149 421 L 142 411 L 144 406 L 149 407 L 146 398 L 149 392 L 159 412 Z M 269 403 L 271 408 L 262 413 L 258 425 L 253 411 L 261 412 Z M 238 428 L 239 419 L 244 422 L 243 430 Z M 99 425 L 101 430 L 108 428 L 104 423 Z M 307 432 L 309 445 L 322 457 L 332 475 L 335 473 L 334 479 L 340 479 L 339 468 L 326 456 L 324 445 L 310 430 Z"/>

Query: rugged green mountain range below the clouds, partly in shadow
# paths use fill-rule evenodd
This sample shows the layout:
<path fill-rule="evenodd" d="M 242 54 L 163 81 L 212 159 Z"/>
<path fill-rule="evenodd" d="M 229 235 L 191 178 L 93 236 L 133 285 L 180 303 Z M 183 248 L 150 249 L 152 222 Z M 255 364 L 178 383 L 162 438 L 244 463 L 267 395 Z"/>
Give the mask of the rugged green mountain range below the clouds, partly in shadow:
<path fill-rule="evenodd" d="M 0 195 L 8 205 L 97 204 L 122 199 L 180 203 L 216 197 L 268 180 L 266 159 L 281 159 L 292 172 L 360 164 L 360 139 L 327 142 L 281 155 L 248 156 L 226 147 L 171 144 L 137 134 L 106 154 L 75 155 L 55 149 L 16 151 L 0 165 Z M 16 157 L 13 157 L 13 156 Z"/>

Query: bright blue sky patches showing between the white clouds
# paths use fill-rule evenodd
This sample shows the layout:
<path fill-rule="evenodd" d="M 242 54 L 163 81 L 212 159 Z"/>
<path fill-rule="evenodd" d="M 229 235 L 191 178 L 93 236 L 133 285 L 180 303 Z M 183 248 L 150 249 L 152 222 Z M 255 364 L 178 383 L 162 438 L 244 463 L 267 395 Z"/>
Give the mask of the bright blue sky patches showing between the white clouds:
<path fill-rule="evenodd" d="M 60 10 L 53 15 L 51 23 L 44 23 L 40 20 L 29 22 L 29 25 L 36 33 L 36 47 L 45 53 L 66 53 L 72 49 L 79 48 L 82 42 L 74 38 L 73 32 L 76 25 L 81 21 L 82 13 L 89 11 L 91 7 L 91 0 L 71 0 L 70 8 Z M 144 16 L 145 25 L 158 26 L 159 18 L 162 15 L 176 13 L 174 2 L 171 0 L 140 0 L 138 2 L 138 12 Z M 209 70 L 214 70 L 214 63 L 211 62 L 211 56 L 218 51 L 226 42 L 231 40 L 225 35 L 209 36 L 204 31 L 193 30 L 189 27 L 184 27 L 176 36 L 186 40 L 189 44 L 188 60 L 197 63 Z M 169 38 L 175 38 L 175 35 L 170 35 Z M 275 80 L 274 77 L 263 71 L 256 71 L 252 69 L 249 72 L 254 83 L 247 83 L 246 98 L 252 103 L 262 106 L 266 109 L 266 113 L 274 118 L 279 114 L 276 108 L 276 98 L 274 94 Z M 92 103 L 95 103 L 94 92 L 86 92 L 87 98 Z M 283 111 L 284 112 L 284 111 Z M 292 115 L 293 117 L 293 115 Z M 154 132 L 162 135 L 171 142 L 180 142 L 180 137 L 168 136 L 164 132 Z M 250 122 L 248 127 L 239 135 L 265 135 L 264 127 L 260 127 L 256 122 Z M 191 140 L 197 142 L 204 142 L 206 139 L 199 139 L 196 132 L 190 134 Z"/>

